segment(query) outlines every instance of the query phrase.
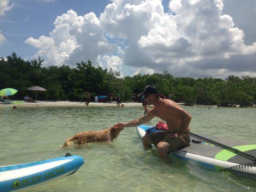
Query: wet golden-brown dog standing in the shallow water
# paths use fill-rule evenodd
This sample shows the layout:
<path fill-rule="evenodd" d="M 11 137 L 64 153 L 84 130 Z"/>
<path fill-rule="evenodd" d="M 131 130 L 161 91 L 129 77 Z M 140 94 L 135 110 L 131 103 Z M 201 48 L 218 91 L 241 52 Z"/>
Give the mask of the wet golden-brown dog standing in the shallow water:
<path fill-rule="evenodd" d="M 114 129 L 113 127 L 110 127 L 108 129 L 104 129 L 101 131 L 80 132 L 75 134 L 73 137 L 66 139 L 62 147 L 66 147 L 72 144 L 85 146 L 87 143 L 91 143 L 91 142 L 111 143 L 114 139 L 118 137 L 119 133 L 122 130 L 123 129 Z"/>

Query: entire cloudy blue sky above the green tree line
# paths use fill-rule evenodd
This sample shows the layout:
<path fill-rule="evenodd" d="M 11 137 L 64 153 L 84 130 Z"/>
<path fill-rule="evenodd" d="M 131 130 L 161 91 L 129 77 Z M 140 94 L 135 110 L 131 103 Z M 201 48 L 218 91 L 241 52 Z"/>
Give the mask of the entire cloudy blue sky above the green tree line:
<path fill-rule="evenodd" d="M 0 0 L 0 57 L 122 76 L 256 76 L 256 0 Z"/>

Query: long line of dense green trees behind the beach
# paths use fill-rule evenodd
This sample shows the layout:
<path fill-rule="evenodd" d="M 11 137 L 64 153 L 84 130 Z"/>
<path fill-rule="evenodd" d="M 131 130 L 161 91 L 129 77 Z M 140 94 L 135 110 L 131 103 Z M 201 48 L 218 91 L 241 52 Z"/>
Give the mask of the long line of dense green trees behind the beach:
<path fill-rule="evenodd" d="M 165 96 L 185 104 L 219 105 L 241 107 L 256 104 L 256 77 L 228 76 L 219 78 L 173 77 L 169 72 L 137 74 L 120 77 L 120 72 L 103 70 L 90 60 L 76 63 L 76 68 L 67 65 L 42 67 L 43 59 L 25 61 L 16 53 L 0 59 L 0 89 L 15 88 L 13 99 L 23 99 L 35 93 L 28 87 L 39 85 L 47 89 L 38 92 L 43 100 L 83 101 L 86 91 L 91 96 L 120 94 L 122 101 L 130 101 L 133 93 L 141 93 L 146 85 L 156 85 Z"/>

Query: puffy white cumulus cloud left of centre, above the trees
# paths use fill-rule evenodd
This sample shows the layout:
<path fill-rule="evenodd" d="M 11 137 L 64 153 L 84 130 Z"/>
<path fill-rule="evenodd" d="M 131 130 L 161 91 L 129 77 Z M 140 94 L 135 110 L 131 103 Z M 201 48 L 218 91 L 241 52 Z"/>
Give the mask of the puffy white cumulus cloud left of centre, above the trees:
<path fill-rule="evenodd" d="M 58 16 L 50 36 L 28 38 L 28 43 L 40 50 L 35 57 L 46 59 L 46 65 L 75 65 L 76 62 L 92 60 L 110 52 L 115 46 L 109 44 L 95 13 L 78 16 L 73 10 Z"/>

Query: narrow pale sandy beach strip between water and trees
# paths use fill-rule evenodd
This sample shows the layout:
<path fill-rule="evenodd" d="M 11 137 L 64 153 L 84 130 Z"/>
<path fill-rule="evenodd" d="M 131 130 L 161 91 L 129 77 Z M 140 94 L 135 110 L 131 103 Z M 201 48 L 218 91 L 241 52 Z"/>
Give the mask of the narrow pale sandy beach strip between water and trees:
<path fill-rule="evenodd" d="M 13 101 L 11 101 L 13 102 Z M 16 105 L 17 107 L 77 107 L 77 106 L 81 106 L 81 107 L 87 107 L 85 106 L 85 102 L 78 102 L 78 101 L 37 101 L 36 103 L 27 103 L 24 101 L 14 101 L 14 102 L 18 102 L 18 103 L 12 103 L 12 104 L 8 104 L 8 105 L 4 105 L 4 104 L 0 104 L 0 108 L 3 107 L 12 107 L 14 105 Z M 141 103 L 122 103 L 125 106 L 141 106 Z M 116 102 L 113 103 L 94 103 L 91 102 L 89 103 L 89 106 L 113 106 L 116 107 Z"/>

